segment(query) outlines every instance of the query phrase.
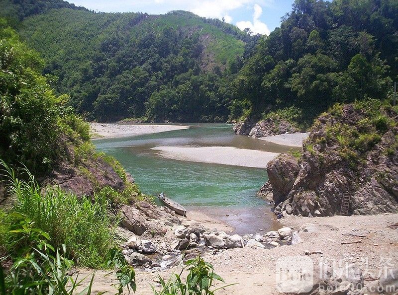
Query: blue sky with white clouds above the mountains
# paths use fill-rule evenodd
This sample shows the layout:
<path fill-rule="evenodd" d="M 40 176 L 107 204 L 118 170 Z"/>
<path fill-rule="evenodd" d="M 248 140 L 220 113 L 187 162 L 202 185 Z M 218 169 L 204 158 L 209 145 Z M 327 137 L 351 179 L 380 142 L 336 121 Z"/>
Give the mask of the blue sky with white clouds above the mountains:
<path fill-rule="evenodd" d="M 269 34 L 291 11 L 294 0 L 69 0 L 75 5 L 103 12 L 162 14 L 188 10 L 200 16 L 219 18 L 254 33 Z"/>

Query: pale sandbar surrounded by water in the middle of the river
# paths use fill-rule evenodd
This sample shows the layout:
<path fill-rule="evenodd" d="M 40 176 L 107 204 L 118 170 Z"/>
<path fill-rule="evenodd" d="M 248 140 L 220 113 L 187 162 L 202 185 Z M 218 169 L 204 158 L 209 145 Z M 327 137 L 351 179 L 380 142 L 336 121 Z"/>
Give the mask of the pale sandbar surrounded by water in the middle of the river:
<path fill-rule="evenodd" d="M 155 147 L 160 154 L 169 159 L 243 166 L 253 168 L 266 168 L 267 163 L 279 153 L 234 148 L 234 147 Z"/>

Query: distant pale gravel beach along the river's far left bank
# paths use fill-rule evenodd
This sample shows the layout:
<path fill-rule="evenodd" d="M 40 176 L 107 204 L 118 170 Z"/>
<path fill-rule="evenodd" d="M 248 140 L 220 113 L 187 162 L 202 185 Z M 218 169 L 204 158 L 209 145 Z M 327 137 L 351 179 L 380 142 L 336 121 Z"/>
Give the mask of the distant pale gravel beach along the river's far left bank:
<path fill-rule="evenodd" d="M 93 138 L 118 138 L 187 129 L 183 125 L 90 123 Z"/>

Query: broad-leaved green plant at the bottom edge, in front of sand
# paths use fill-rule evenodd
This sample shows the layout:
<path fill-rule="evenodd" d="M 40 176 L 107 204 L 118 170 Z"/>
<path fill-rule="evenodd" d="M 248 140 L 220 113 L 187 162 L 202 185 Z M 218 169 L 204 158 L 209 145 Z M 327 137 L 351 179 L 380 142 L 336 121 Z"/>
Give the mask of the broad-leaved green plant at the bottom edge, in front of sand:
<path fill-rule="evenodd" d="M 186 269 L 189 271 L 189 274 L 185 282 L 183 282 L 182 273 Z M 185 262 L 185 266 L 180 274 L 174 274 L 167 282 L 160 276 L 158 278 L 161 290 L 157 291 L 152 287 L 155 295 L 213 295 L 219 289 L 234 285 L 231 284 L 213 289 L 214 281 L 224 282 L 224 280 L 214 273 L 213 266 L 205 262 L 200 256 Z"/>

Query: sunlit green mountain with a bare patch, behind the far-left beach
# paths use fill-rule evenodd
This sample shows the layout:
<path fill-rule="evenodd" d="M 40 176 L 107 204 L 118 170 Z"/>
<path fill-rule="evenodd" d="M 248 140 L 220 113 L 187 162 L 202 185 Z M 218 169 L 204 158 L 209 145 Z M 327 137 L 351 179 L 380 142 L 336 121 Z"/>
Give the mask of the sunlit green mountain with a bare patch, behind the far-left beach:
<path fill-rule="evenodd" d="M 227 119 L 221 72 L 251 40 L 236 27 L 186 11 L 95 13 L 65 1 L 32 3 L 3 0 L 5 16 L 19 11 L 21 38 L 47 61 L 44 74 L 59 77 L 56 90 L 69 93 L 88 119 Z"/>

